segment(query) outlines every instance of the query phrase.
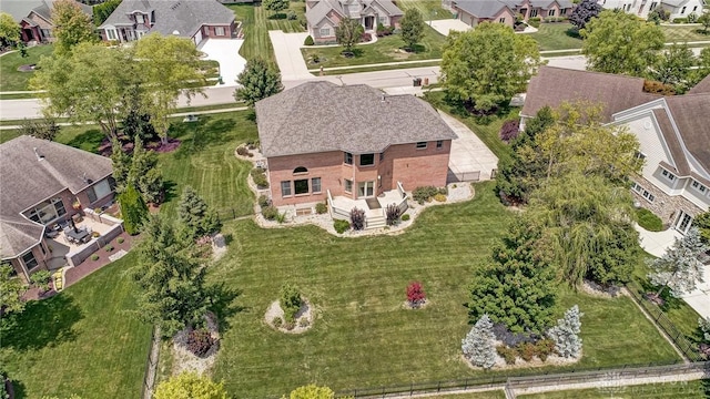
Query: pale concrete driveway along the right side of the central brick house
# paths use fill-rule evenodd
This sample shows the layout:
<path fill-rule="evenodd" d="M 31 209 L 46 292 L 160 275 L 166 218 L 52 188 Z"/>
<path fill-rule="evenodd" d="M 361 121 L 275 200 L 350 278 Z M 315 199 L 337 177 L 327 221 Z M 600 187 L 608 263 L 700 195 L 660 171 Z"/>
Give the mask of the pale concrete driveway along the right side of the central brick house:
<path fill-rule="evenodd" d="M 493 170 L 498 167 L 498 157 L 468 126 L 444 112 L 439 111 L 439 114 L 458 136 L 452 141 L 449 171 L 457 174 L 457 177 L 463 181 L 469 178 L 462 178 L 462 174 L 468 173 L 470 176 L 471 172 L 480 172 L 479 178 L 481 181 L 490 180 Z"/>

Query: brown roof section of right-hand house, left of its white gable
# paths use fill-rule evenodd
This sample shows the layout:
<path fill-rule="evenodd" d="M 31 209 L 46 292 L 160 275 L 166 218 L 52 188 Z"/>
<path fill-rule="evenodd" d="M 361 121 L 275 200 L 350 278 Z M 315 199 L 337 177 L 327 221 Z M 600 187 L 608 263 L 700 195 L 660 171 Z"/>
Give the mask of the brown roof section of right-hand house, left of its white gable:
<path fill-rule="evenodd" d="M 555 109 L 562 102 L 586 100 L 602 103 L 604 122 L 611 122 L 612 114 L 658 98 L 643 92 L 641 78 L 540 66 L 528 83 L 520 114 L 535 116 L 546 105 Z"/>

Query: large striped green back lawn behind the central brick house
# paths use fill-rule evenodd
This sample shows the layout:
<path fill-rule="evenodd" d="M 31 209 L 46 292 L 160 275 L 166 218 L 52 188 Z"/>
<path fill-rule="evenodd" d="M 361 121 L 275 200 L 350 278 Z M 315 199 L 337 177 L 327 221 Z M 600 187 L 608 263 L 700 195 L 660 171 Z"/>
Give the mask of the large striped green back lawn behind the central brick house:
<path fill-rule="evenodd" d="M 344 390 L 487 375 L 460 360 L 470 328 L 463 304 L 469 276 L 513 213 L 493 183 L 476 191 L 470 202 L 426 211 L 398 236 L 345 239 L 313 226 L 227 224 L 233 242 L 209 276 L 242 293 L 243 311 L 226 318 L 232 327 L 223 331 L 216 379 L 232 393 L 271 397 L 308 382 Z M 430 298 L 417 311 L 402 308 L 413 280 Z M 316 308 L 313 329 L 301 336 L 273 331 L 263 320 L 285 282 Z M 585 357 L 575 367 L 678 360 L 630 299 L 560 293 L 560 316 L 575 304 L 586 314 Z M 559 368 L 516 372 L 552 370 Z"/>

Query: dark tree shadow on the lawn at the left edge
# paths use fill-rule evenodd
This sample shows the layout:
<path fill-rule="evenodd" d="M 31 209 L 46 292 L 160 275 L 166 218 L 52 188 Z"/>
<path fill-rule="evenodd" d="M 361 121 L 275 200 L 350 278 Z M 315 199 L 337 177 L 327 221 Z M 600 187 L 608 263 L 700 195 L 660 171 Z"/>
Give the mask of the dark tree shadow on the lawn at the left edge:
<path fill-rule="evenodd" d="M 73 341 L 77 339 L 73 326 L 83 317 L 81 308 L 69 295 L 32 300 L 23 313 L 2 320 L 2 346 L 27 351 Z"/>

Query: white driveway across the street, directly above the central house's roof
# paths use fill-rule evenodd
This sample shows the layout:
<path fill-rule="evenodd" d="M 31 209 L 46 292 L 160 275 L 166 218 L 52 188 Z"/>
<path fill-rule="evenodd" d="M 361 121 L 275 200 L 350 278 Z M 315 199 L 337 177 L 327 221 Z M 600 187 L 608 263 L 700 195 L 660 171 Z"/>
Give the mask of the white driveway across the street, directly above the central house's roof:
<path fill-rule="evenodd" d="M 282 81 L 313 78 L 308 73 L 308 66 L 306 66 L 306 62 L 301 54 L 301 47 L 307 37 L 307 32 L 284 33 L 280 30 L 268 31 L 268 38 L 276 55 L 276 63 L 281 70 Z"/>

